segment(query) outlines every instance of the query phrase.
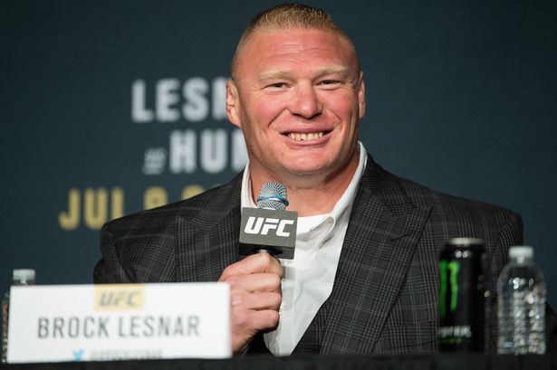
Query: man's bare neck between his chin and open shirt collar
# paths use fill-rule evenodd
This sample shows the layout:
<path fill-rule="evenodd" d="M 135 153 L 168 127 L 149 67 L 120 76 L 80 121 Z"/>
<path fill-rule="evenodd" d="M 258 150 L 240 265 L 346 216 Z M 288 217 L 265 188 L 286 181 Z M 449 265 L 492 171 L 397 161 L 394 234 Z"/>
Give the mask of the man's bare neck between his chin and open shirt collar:
<path fill-rule="evenodd" d="M 298 212 L 300 217 L 330 213 L 350 185 L 359 161 L 360 154 L 356 151 L 350 162 L 335 173 L 312 176 L 261 176 L 259 171 L 250 168 L 254 203 L 261 185 L 277 181 L 288 189 L 287 210 Z"/>

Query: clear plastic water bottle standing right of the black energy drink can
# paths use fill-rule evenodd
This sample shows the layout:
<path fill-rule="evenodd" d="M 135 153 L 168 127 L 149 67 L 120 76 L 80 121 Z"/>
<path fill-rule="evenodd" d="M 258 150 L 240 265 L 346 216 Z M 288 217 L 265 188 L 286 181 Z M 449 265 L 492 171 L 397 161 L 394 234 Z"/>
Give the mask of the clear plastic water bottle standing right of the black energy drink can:
<path fill-rule="evenodd" d="M 545 353 L 545 280 L 533 248 L 514 246 L 497 280 L 499 354 Z"/>

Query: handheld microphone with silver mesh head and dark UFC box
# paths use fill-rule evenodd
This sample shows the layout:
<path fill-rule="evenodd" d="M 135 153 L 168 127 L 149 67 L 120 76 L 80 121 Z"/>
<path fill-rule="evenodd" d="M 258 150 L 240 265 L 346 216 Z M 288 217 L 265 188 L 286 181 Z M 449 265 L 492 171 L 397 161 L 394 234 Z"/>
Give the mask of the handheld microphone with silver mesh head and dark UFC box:
<path fill-rule="evenodd" d="M 286 211 L 286 186 L 264 183 L 257 197 L 258 208 L 242 208 L 240 254 L 268 252 L 283 259 L 294 258 L 298 213 Z"/>

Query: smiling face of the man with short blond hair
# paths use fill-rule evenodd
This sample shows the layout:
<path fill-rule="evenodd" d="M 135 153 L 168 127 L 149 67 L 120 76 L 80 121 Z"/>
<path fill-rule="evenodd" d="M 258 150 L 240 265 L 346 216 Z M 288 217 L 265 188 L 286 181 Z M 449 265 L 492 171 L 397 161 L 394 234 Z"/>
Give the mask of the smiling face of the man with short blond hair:
<path fill-rule="evenodd" d="M 337 34 L 257 31 L 227 88 L 228 118 L 242 128 L 257 175 L 326 177 L 356 160 L 364 84 L 355 52 Z"/>

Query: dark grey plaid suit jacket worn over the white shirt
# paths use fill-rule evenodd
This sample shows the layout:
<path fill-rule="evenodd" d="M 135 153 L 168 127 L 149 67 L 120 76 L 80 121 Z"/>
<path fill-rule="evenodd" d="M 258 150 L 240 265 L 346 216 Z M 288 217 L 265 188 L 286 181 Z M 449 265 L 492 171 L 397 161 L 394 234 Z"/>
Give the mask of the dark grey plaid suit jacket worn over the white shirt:
<path fill-rule="evenodd" d="M 97 283 L 216 281 L 238 261 L 241 176 L 176 204 L 125 216 L 101 231 Z M 408 354 L 437 350 L 438 254 L 447 239 L 481 238 L 492 284 L 520 216 L 393 176 L 371 157 L 360 180 L 331 296 L 294 353 Z M 492 309 L 495 351 L 496 316 Z M 547 311 L 548 348 L 557 347 Z M 317 342 L 317 343 L 315 343 Z"/>

